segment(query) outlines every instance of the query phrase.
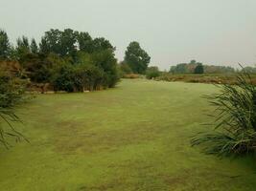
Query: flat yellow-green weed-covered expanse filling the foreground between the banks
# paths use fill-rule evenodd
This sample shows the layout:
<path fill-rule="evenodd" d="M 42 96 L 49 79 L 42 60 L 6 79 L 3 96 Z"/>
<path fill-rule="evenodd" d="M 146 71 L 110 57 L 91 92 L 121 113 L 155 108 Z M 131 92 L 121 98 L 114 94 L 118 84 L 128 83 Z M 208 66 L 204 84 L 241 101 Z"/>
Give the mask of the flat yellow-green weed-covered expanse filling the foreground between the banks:
<path fill-rule="evenodd" d="M 190 146 L 212 111 L 201 96 L 216 91 L 127 79 L 102 92 L 37 96 L 18 111 L 31 143 L 0 148 L 0 190 L 256 190 L 255 160 Z"/>

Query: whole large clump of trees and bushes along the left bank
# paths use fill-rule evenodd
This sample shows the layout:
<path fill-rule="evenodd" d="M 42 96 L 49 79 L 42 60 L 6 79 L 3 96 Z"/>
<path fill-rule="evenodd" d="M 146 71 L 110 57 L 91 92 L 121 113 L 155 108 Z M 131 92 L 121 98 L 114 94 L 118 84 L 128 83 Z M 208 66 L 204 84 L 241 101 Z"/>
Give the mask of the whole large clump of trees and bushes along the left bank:
<path fill-rule="evenodd" d="M 45 32 L 35 39 L 19 37 L 11 45 L 0 31 L 0 63 L 20 65 L 20 72 L 34 83 L 49 83 L 56 91 L 81 92 L 114 87 L 119 80 L 115 48 L 104 37 L 71 29 Z"/>

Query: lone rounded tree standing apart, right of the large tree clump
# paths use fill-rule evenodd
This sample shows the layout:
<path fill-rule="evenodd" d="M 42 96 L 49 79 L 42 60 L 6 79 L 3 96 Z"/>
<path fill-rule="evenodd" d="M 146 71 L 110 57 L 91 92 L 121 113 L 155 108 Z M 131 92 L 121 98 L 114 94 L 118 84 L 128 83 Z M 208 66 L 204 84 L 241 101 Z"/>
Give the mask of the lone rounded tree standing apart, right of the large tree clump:
<path fill-rule="evenodd" d="M 126 51 L 125 62 L 133 73 L 145 74 L 151 62 L 151 57 L 140 47 L 138 42 L 131 42 Z"/>

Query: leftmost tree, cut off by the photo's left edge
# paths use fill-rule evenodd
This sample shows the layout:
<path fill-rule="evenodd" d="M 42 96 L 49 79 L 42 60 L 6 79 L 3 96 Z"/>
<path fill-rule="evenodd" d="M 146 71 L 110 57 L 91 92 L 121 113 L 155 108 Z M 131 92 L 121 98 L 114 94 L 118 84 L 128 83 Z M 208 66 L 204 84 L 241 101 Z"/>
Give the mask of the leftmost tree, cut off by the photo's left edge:
<path fill-rule="evenodd" d="M 11 45 L 7 32 L 0 30 L 0 59 L 8 59 Z"/>

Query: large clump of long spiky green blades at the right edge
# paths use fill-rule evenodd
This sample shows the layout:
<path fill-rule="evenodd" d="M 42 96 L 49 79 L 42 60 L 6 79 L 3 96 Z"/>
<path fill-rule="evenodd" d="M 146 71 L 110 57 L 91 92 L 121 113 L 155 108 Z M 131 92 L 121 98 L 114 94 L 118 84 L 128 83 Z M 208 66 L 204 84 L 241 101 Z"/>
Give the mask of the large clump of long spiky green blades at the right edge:
<path fill-rule="evenodd" d="M 202 144 L 207 154 L 244 155 L 256 152 L 256 87 L 249 74 L 238 74 L 236 85 L 221 85 L 221 92 L 205 96 L 216 107 L 214 129 L 201 132 L 192 145 Z"/>

